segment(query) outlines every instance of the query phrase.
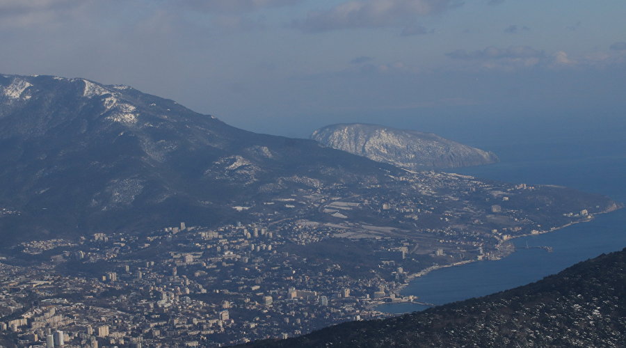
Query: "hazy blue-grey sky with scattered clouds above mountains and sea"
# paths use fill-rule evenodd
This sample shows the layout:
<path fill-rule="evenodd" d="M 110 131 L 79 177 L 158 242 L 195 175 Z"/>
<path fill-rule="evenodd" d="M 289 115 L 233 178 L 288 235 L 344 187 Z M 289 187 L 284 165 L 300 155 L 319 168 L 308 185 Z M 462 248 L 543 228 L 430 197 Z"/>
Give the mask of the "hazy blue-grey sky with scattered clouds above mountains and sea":
<path fill-rule="evenodd" d="M 625 18 L 623 0 L 0 0 L 0 72 L 125 84 L 284 136 L 623 136 Z"/>

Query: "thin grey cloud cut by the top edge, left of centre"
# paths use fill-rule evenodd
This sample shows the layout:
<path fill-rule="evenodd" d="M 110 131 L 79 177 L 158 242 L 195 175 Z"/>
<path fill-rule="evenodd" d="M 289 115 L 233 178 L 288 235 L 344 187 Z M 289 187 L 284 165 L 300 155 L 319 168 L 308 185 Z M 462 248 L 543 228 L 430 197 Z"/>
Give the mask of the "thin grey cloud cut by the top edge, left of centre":
<path fill-rule="evenodd" d="M 293 6 L 303 0 L 170 0 L 177 5 L 203 12 L 241 13 L 260 8 Z"/>

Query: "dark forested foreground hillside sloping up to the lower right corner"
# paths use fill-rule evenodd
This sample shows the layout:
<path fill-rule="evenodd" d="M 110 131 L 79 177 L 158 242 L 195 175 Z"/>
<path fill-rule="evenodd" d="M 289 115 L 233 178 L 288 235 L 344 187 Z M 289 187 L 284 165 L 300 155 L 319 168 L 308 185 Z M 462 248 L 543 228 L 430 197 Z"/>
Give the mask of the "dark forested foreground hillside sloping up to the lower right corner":
<path fill-rule="evenodd" d="M 243 347 L 626 347 L 626 248 L 480 299 Z"/>

